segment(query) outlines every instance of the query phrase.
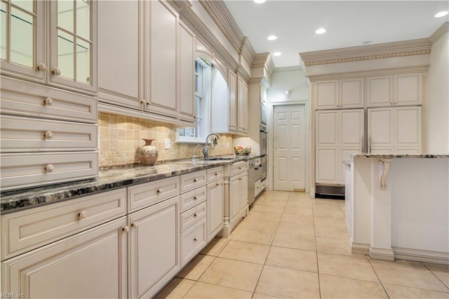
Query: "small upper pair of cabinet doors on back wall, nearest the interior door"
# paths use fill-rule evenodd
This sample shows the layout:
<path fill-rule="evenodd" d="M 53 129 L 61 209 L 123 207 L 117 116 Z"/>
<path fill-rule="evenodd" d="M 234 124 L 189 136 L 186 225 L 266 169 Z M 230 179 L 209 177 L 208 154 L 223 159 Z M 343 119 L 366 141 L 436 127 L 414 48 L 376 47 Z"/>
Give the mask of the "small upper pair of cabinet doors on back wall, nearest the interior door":
<path fill-rule="evenodd" d="M 315 109 L 362 108 L 365 105 L 363 78 L 316 81 Z"/>

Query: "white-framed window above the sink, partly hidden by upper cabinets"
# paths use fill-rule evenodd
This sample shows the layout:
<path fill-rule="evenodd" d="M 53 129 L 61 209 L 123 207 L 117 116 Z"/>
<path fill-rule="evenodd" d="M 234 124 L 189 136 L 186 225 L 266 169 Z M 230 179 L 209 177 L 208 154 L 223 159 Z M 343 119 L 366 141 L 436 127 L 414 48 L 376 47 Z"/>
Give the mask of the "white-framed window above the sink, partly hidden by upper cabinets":
<path fill-rule="evenodd" d="M 195 60 L 195 125 L 179 128 L 177 142 L 204 142 L 209 131 L 210 72 L 212 65 L 207 60 Z"/>

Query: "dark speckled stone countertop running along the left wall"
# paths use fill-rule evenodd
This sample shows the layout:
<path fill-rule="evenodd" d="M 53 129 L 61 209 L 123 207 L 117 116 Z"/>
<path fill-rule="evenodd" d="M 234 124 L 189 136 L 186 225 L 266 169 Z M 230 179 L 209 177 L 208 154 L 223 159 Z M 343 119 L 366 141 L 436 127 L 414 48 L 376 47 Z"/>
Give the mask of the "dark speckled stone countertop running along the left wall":
<path fill-rule="evenodd" d="M 0 212 L 2 214 L 11 213 L 25 208 L 74 199 L 76 197 L 81 197 L 82 195 L 105 192 L 120 187 L 151 182 L 153 180 L 192 173 L 194 171 L 201 171 L 203 169 L 225 164 L 232 164 L 236 161 L 247 161 L 257 157 L 260 156 L 239 156 L 234 157 L 234 159 L 216 159 L 208 161 L 198 159 L 195 162 L 192 162 L 191 160 L 171 161 L 168 163 L 156 164 L 154 166 L 138 165 L 102 168 L 99 171 L 98 178 L 91 180 L 67 182 L 27 190 L 1 192 Z"/>

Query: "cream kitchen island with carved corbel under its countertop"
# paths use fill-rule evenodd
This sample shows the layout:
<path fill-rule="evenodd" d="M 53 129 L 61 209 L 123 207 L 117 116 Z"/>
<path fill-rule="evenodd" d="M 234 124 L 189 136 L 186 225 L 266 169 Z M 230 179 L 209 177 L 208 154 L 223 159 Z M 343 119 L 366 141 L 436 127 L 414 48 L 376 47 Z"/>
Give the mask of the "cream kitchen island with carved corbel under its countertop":
<path fill-rule="evenodd" d="M 449 155 L 353 154 L 345 192 L 353 253 L 449 264 Z"/>

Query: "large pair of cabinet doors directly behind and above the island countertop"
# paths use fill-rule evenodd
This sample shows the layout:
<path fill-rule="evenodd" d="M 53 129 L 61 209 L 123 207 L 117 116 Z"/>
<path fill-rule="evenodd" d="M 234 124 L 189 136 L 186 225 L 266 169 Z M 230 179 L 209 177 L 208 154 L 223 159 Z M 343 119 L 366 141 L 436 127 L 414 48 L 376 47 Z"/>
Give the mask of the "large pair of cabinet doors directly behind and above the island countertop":
<path fill-rule="evenodd" d="M 421 154 L 420 106 L 368 109 L 368 152 L 372 154 Z"/>

